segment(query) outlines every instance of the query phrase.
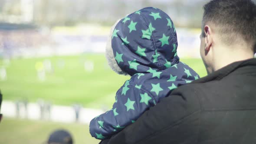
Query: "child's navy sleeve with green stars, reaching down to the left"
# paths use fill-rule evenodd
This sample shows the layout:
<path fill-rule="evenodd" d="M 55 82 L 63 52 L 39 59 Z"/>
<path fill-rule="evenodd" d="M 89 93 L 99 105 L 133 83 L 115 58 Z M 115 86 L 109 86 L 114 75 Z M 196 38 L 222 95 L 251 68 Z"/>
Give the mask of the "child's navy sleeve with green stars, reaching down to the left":
<path fill-rule="evenodd" d="M 92 119 L 90 134 L 97 139 L 106 139 L 134 123 L 144 111 L 154 105 L 154 98 L 138 85 L 126 82 L 116 93 L 116 101 L 110 111 Z"/>

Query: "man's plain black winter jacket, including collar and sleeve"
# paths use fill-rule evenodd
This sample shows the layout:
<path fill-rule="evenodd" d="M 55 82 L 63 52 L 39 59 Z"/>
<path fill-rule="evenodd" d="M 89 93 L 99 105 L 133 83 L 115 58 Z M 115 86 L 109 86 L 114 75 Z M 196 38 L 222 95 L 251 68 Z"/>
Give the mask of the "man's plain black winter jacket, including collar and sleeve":
<path fill-rule="evenodd" d="M 256 144 L 256 59 L 175 89 L 102 144 Z"/>

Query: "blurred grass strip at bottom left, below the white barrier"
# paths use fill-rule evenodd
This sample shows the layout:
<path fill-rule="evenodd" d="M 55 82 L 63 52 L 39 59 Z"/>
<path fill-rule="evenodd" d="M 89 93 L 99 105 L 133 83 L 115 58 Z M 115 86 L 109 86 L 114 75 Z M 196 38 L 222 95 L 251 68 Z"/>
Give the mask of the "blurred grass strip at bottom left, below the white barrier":
<path fill-rule="evenodd" d="M 91 137 L 88 125 L 3 118 L 0 124 L 0 144 L 43 144 L 49 134 L 59 128 L 66 129 L 72 134 L 74 144 L 100 142 Z"/>

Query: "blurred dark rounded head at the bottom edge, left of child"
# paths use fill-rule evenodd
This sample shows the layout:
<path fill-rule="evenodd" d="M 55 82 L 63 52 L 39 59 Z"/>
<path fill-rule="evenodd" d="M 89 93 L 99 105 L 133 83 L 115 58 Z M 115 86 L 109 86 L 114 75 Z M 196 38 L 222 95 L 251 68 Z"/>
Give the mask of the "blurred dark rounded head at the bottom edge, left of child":
<path fill-rule="evenodd" d="M 68 131 L 60 129 L 50 134 L 47 144 L 73 144 L 73 140 Z"/>

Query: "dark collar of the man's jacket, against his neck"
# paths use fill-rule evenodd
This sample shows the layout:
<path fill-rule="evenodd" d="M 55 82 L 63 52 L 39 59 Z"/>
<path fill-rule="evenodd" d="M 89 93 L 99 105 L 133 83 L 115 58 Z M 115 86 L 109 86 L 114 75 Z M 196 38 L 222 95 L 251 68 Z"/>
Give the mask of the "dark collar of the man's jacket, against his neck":
<path fill-rule="evenodd" d="M 239 69 L 244 66 L 255 65 L 256 59 L 247 59 L 244 61 L 233 62 L 230 65 L 223 67 L 222 69 L 217 70 L 216 72 L 211 73 L 201 79 L 197 79 L 192 83 L 205 83 L 213 80 L 220 80 L 229 75 L 231 72 L 234 72 L 236 69 Z"/>

